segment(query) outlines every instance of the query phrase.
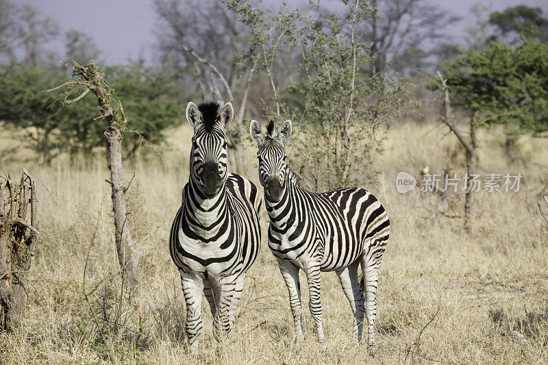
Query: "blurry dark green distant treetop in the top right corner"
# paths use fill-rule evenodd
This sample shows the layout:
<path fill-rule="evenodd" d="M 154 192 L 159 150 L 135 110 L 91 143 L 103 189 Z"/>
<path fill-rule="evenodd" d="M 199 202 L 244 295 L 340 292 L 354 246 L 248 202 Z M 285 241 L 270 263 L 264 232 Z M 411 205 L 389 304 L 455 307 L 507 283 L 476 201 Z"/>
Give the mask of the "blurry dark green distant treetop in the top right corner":
<path fill-rule="evenodd" d="M 496 27 L 499 38 L 509 43 L 519 42 L 521 35 L 548 42 L 548 19 L 543 17 L 540 8 L 517 5 L 493 12 L 489 15 L 489 23 Z"/>

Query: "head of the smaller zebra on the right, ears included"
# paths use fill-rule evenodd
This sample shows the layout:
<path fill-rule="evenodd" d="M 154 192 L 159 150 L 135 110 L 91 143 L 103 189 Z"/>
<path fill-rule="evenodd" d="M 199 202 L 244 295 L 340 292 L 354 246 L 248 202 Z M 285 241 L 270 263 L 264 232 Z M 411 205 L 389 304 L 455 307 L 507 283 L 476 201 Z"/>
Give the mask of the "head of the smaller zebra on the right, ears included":
<path fill-rule="evenodd" d="M 292 130 L 291 121 L 282 123 L 276 136 L 272 121 L 266 127 L 266 134 L 262 133 L 262 127 L 257 121 L 251 121 L 249 125 L 251 138 L 259 147 L 259 180 L 269 201 L 277 202 L 282 198 L 287 167 L 284 144 L 289 140 Z"/>

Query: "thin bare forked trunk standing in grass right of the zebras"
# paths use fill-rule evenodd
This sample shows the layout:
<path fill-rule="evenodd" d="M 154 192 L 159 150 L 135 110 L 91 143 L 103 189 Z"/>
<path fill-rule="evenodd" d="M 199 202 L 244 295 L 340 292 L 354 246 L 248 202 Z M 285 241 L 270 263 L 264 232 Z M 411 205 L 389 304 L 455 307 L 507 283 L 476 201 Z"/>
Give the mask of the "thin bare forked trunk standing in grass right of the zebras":
<path fill-rule="evenodd" d="M 449 127 L 453 134 L 457 137 L 462 147 L 466 151 L 466 197 L 464 198 L 464 228 L 468 230 L 470 228 L 470 217 L 472 215 L 473 205 L 474 205 L 474 192 L 471 186 L 469 186 L 469 181 L 473 177 L 477 167 L 477 137 L 476 137 L 476 125 L 474 118 L 470 120 L 470 140 L 466 140 L 462 133 L 455 127 L 453 121 L 453 114 L 451 114 L 451 101 L 449 101 L 449 88 L 447 88 L 447 80 L 442 77 L 438 72 L 440 77 L 442 92 L 443 92 L 443 105 L 445 109 L 445 114 L 442 118 L 443 123 Z"/>

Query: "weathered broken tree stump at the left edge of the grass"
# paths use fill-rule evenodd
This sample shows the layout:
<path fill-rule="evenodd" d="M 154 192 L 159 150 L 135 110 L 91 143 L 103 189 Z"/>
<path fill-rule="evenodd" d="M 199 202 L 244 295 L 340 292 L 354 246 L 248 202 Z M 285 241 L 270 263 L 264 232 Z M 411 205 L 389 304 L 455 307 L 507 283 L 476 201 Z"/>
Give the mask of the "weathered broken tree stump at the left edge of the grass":
<path fill-rule="evenodd" d="M 0 186 L 0 329 L 10 331 L 25 316 L 38 220 L 36 184 L 23 169 L 19 184 L 8 175 Z M 30 223 L 27 213 L 30 204 Z"/>

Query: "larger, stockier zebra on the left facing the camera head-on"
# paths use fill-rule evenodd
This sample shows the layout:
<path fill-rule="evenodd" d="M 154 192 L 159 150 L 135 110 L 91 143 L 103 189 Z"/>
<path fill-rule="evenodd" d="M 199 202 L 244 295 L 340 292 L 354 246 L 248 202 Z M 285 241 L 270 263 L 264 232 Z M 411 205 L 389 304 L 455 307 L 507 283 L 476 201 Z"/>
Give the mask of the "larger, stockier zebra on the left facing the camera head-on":
<path fill-rule="evenodd" d="M 231 103 L 188 103 L 194 127 L 190 178 L 171 227 L 169 249 L 181 274 L 186 335 L 193 351 L 202 333 L 202 292 L 213 314 L 214 333 L 227 334 L 242 294 L 244 276 L 260 249 L 261 199 L 251 181 L 227 171 L 225 128 Z"/>

